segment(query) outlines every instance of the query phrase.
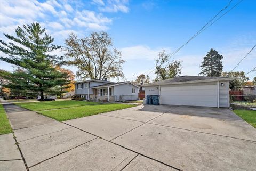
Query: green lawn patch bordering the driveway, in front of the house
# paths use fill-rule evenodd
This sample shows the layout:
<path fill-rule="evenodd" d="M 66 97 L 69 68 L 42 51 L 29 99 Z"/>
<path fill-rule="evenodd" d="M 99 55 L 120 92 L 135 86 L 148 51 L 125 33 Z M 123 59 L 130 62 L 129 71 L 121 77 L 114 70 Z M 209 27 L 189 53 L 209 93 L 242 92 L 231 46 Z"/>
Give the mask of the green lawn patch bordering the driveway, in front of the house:
<path fill-rule="evenodd" d="M 58 121 L 65 121 L 75 118 L 81 118 L 85 116 L 95 115 L 98 113 L 105 113 L 109 111 L 125 109 L 135 107 L 134 104 L 98 104 L 98 105 L 85 105 L 82 107 L 75 108 L 66 108 L 66 109 L 58 109 L 58 110 L 47 110 L 47 111 L 39 111 L 44 116 L 56 119 Z"/>

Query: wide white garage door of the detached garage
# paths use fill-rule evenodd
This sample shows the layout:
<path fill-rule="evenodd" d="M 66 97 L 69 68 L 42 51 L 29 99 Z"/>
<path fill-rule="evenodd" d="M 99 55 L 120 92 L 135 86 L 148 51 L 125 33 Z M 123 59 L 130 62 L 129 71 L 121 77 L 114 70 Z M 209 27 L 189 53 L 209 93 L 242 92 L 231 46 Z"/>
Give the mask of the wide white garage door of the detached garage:
<path fill-rule="evenodd" d="M 217 84 L 179 84 L 161 86 L 160 104 L 217 107 Z"/>

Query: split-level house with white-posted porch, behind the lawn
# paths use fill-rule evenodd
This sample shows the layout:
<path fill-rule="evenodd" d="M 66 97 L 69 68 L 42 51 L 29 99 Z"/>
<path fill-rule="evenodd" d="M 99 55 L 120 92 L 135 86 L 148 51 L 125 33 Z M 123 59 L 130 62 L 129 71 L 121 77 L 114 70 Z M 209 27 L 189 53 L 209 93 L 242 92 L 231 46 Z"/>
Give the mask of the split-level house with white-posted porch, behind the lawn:
<path fill-rule="evenodd" d="M 138 100 L 139 87 L 131 82 L 91 79 L 75 83 L 75 95 L 87 100 L 109 102 Z"/>

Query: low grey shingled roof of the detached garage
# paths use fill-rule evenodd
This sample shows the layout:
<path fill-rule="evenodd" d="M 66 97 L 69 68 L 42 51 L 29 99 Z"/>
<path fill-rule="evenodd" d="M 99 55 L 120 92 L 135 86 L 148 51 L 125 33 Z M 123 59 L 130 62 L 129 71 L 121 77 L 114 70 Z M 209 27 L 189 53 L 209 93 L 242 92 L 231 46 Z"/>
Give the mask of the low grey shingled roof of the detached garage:
<path fill-rule="evenodd" d="M 154 83 L 144 84 L 142 86 L 168 85 L 168 84 L 185 84 L 185 83 L 199 83 L 199 82 L 217 82 L 224 80 L 234 80 L 231 77 L 205 77 L 205 76 L 179 76 L 170 79 L 161 80 Z"/>

